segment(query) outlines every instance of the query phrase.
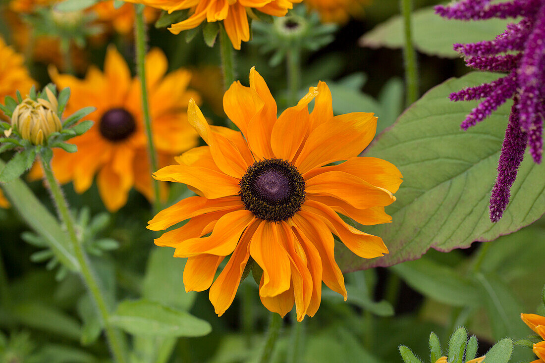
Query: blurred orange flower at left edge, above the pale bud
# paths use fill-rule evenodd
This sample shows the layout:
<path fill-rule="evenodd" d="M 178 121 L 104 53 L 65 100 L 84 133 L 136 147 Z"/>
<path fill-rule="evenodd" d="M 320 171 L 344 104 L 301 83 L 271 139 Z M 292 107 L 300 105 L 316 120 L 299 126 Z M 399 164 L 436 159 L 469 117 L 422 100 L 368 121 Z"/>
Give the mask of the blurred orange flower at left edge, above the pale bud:
<path fill-rule="evenodd" d="M 5 96 L 15 97 L 17 90 L 25 96 L 36 82 L 25 68 L 25 59 L 4 43 L 0 37 L 0 100 Z M 3 117 L 0 111 L 0 118 Z"/>

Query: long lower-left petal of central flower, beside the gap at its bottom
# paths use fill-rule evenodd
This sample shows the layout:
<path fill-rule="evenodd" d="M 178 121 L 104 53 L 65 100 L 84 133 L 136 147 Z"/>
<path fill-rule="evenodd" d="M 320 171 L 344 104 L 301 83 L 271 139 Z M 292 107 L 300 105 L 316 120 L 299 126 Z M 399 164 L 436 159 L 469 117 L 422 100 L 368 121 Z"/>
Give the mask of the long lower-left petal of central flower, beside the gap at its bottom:
<path fill-rule="evenodd" d="M 237 293 L 240 279 L 250 257 L 249 244 L 253 233 L 256 231 L 260 221 L 255 219 L 240 238 L 237 248 L 229 258 L 229 262 L 217 276 L 216 281 L 210 287 L 210 302 L 214 305 L 214 310 L 218 316 L 222 316 L 227 310 L 235 294 Z"/>

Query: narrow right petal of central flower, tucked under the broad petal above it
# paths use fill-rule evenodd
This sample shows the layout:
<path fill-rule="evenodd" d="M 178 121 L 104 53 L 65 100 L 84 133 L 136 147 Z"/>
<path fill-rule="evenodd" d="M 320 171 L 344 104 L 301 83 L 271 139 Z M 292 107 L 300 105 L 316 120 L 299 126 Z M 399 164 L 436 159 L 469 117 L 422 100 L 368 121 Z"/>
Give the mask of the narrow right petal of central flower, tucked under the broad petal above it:
<path fill-rule="evenodd" d="M 364 226 L 380 225 L 392 221 L 392 217 L 386 214 L 384 207 L 358 209 L 335 197 L 318 194 L 307 194 L 306 197 L 312 201 L 323 203 L 336 212 L 346 215 Z"/>

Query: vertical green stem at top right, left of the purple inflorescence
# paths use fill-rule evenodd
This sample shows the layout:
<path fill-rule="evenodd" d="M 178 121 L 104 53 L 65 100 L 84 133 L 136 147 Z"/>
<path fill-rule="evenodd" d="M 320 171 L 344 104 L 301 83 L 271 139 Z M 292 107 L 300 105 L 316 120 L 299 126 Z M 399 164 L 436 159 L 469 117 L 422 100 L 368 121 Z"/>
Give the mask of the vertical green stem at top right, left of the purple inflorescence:
<path fill-rule="evenodd" d="M 411 29 L 411 13 L 413 11 L 412 0 L 401 0 L 401 12 L 403 14 L 403 25 L 405 32 L 405 47 L 403 58 L 405 63 L 405 83 L 407 87 L 407 106 L 418 99 L 418 75 L 416 64 L 416 52 L 413 45 L 413 34 Z"/>

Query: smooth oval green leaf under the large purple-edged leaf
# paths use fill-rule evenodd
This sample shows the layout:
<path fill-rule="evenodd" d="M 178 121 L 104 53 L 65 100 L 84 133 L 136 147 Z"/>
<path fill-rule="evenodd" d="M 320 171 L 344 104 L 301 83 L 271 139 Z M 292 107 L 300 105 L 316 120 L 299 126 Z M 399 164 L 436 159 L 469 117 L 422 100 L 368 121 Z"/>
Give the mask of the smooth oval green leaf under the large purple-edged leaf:
<path fill-rule="evenodd" d="M 473 281 L 426 257 L 392 266 L 391 269 L 426 297 L 452 306 L 480 304 L 479 291 Z"/>

